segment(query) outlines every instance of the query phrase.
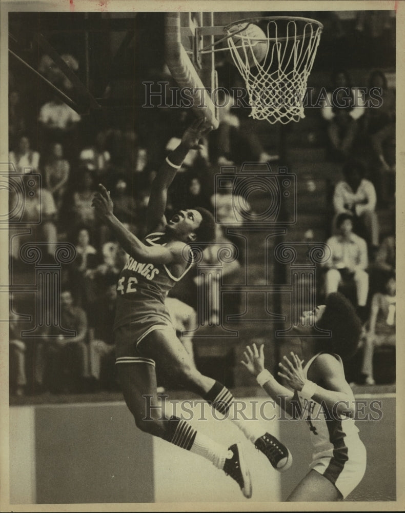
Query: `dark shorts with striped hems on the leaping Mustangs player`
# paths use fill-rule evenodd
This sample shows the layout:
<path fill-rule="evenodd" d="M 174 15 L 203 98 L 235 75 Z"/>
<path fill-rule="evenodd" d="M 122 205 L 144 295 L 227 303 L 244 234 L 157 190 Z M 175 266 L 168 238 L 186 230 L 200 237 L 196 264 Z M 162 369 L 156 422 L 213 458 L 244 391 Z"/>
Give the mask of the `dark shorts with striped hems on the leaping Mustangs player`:
<path fill-rule="evenodd" d="M 171 320 L 158 314 L 146 314 L 139 320 L 115 328 L 115 363 L 147 363 L 155 366 L 154 360 L 143 355 L 139 343 L 156 329 L 176 334 Z"/>

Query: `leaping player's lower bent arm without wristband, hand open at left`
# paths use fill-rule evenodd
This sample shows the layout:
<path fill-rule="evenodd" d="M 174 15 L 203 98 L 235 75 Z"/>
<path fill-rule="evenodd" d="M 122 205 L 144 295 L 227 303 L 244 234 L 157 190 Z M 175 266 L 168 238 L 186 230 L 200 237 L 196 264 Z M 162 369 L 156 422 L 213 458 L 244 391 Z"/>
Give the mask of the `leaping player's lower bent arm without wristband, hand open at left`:
<path fill-rule="evenodd" d="M 184 242 L 174 242 L 170 246 L 146 246 L 115 217 L 110 193 L 102 184 L 98 184 L 98 192 L 94 194 L 92 205 L 97 217 L 108 224 L 119 244 L 138 262 L 184 265 L 184 254 L 187 249 Z"/>

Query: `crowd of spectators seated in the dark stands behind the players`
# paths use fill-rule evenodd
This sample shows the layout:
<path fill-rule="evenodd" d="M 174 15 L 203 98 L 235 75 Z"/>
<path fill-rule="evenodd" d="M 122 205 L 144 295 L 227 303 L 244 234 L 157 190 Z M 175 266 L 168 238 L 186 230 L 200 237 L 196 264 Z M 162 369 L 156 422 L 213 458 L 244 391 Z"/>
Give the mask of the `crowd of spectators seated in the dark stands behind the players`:
<path fill-rule="evenodd" d="M 336 183 L 333 194 L 334 215 L 328 221 L 332 257 L 323 275 L 325 294 L 354 285 L 353 302 L 367 331 L 363 372 L 372 383 L 370 354 L 376 341 L 381 340 L 380 334 L 385 333 L 381 315 L 386 317 L 384 322 L 391 334 L 395 323 L 395 238 L 380 241 L 376 212 L 379 201 L 381 205 L 393 201 L 395 191 L 395 161 L 390 152 L 395 145 L 395 94 L 388 89 L 380 71 L 370 75 L 370 84 L 382 88 L 381 110 L 367 107 L 367 97 L 362 97 L 345 109 L 324 105 L 319 116 L 327 124 L 331 158 L 342 163 L 342 180 Z M 346 71 L 334 73 L 332 86 L 353 90 Z M 158 170 L 156 155 L 165 155 L 176 147 L 179 134 L 174 127 L 185 126 L 189 113 L 179 114 L 174 109 L 173 131 L 160 130 L 154 147 L 153 135 L 145 143 L 145 135 L 136 127 L 128 129 L 126 123 L 95 123 L 93 132 L 88 133 L 89 123 L 84 128 L 82 117 L 57 96 L 49 97 L 39 107 L 37 124 L 28 126 L 21 93 L 14 88 L 9 97 L 10 172 L 22 174 L 25 179 L 30 173 L 39 175 L 34 193 L 26 196 L 21 224 L 24 227 L 26 223 L 31 233 L 14 236 L 11 241 L 13 269 L 24 271 L 19 250 L 26 241 L 47 243 L 50 260 L 56 242 L 68 241 L 76 248 L 74 261 L 62 267 L 60 294 L 61 324 L 76 334 L 55 338 L 52 333 L 44 333 L 40 340 L 33 341 L 29 350 L 34 355 L 35 370 L 33 377 L 27 379 L 25 353 L 30 343 L 19 334 L 20 324 L 11 312 L 10 359 L 15 369 L 10 372 L 12 390 L 23 394 L 114 389 L 115 283 L 127 255 L 108 227 L 95 218 L 93 195 L 98 183 L 105 184 L 111 191 L 118 219 L 133 233 L 144 236 L 150 186 Z M 252 130 L 250 120 L 236 109 L 232 111 L 230 102 L 225 104 L 227 107 L 220 110 L 219 129 L 204 141 L 204 149 L 190 152 L 168 199 L 169 215 L 171 210 L 186 206 L 202 206 L 212 212 L 215 206 L 220 221 L 217 242 L 221 244 L 231 242 L 224 228 L 229 223 L 235 226 L 235 216 L 232 195 L 215 194 L 213 176 L 218 166 L 273 160 L 271 150 Z M 168 113 L 163 111 L 161 115 L 166 119 Z M 153 134 L 151 126 L 149 133 Z M 162 134 L 166 134 L 166 140 Z M 364 163 L 351 159 L 359 137 L 368 144 L 371 155 Z M 11 203 L 18 201 L 13 194 L 17 193 L 11 192 Z M 247 209 L 254 209 L 254 205 L 245 204 Z M 30 224 L 38 219 L 38 211 L 41 222 Z M 216 257 L 209 250 L 204 258 L 215 263 Z M 223 266 L 227 279 L 237 277 L 243 260 L 241 252 L 239 260 Z M 195 326 L 196 304 L 190 300 L 190 291 L 198 290 L 201 284 L 195 274 L 190 280 L 194 288 L 190 282 L 188 291 L 173 294 L 177 294 L 177 302 L 172 302 L 171 310 L 179 332 Z M 218 286 L 214 280 L 212 287 Z M 187 307 L 181 306 L 186 304 Z M 220 311 L 215 310 L 206 321 L 215 325 L 219 318 Z M 185 339 L 185 344 L 192 352 L 190 339 Z"/>

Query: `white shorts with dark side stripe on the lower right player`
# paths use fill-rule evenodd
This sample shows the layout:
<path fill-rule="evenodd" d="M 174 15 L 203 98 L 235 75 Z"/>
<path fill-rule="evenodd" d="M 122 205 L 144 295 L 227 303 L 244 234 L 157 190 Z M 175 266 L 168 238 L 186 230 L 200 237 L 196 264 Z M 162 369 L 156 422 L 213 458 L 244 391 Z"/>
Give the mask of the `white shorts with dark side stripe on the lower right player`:
<path fill-rule="evenodd" d="M 333 483 L 343 499 L 356 488 L 366 472 L 366 447 L 358 437 L 351 441 L 346 437 L 346 447 L 335 449 L 333 456 L 320 456 L 310 464 L 310 468 L 319 472 Z"/>

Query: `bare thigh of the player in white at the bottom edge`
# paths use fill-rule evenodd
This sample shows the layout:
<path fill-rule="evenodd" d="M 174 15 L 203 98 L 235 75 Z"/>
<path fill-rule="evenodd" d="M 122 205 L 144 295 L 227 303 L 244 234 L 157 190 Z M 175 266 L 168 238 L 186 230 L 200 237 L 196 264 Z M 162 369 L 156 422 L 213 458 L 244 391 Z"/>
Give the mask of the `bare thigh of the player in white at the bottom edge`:
<path fill-rule="evenodd" d="M 340 501 L 339 490 L 316 470 L 310 470 L 291 492 L 287 502 Z"/>

